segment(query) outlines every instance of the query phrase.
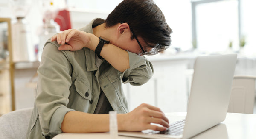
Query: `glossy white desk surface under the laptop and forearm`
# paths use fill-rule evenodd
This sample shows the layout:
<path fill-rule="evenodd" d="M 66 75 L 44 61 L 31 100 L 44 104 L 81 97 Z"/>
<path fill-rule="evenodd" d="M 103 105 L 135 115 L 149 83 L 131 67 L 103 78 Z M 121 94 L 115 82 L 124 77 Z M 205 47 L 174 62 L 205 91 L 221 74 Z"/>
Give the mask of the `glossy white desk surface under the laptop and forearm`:
<path fill-rule="evenodd" d="M 167 113 L 170 122 L 186 116 L 186 112 Z M 53 139 L 111 139 L 109 133 L 62 133 Z M 118 136 L 118 139 L 141 139 Z M 256 114 L 227 113 L 221 124 L 193 137 L 192 139 L 256 139 Z"/>

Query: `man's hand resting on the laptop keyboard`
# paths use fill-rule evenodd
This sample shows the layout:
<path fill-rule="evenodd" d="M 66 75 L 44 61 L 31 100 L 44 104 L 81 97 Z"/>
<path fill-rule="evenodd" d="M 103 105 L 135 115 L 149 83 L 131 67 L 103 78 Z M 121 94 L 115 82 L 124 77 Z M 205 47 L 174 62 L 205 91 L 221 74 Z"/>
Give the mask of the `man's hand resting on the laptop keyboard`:
<path fill-rule="evenodd" d="M 163 127 L 151 125 L 150 123 L 160 124 Z M 160 108 L 145 103 L 125 114 L 125 121 L 121 124 L 123 124 L 122 127 L 124 127 L 125 131 L 142 131 L 146 129 L 165 131 L 169 128 L 169 120 Z"/>

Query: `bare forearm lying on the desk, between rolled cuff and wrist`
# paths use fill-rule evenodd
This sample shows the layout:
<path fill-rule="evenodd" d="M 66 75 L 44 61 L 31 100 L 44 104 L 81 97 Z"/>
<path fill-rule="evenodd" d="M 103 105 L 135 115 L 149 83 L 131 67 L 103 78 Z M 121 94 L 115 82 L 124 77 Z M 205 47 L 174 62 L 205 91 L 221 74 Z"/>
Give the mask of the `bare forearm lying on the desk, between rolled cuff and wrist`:
<path fill-rule="evenodd" d="M 118 130 L 123 131 L 124 114 L 117 114 Z M 122 124 L 121 124 L 122 122 Z M 88 114 L 69 111 L 61 125 L 65 133 L 95 133 L 109 131 L 109 114 Z"/>

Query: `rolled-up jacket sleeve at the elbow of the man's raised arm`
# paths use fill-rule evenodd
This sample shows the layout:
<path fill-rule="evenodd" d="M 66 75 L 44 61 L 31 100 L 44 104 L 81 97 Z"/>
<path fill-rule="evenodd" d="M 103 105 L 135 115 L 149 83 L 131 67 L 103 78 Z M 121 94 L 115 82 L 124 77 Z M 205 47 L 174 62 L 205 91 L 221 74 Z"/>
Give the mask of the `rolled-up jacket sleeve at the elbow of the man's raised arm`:
<path fill-rule="evenodd" d="M 130 68 L 125 72 L 119 72 L 123 83 L 130 83 L 134 86 L 143 85 L 153 76 L 153 65 L 144 56 L 135 53 L 129 54 Z"/>

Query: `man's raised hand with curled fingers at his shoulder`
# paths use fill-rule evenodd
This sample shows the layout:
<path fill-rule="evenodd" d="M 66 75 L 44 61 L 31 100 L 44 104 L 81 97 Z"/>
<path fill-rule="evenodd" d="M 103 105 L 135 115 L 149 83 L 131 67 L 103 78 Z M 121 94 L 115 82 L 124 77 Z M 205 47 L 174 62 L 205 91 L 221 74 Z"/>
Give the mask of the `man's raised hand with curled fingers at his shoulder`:
<path fill-rule="evenodd" d="M 61 44 L 58 50 L 76 51 L 83 47 L 90 47 L 92 35 L 84 31 L 69 29 L 52 36 L 51 41 L 57 41 L 58 44 Z"/>

